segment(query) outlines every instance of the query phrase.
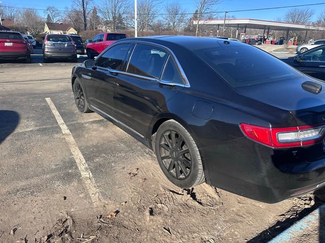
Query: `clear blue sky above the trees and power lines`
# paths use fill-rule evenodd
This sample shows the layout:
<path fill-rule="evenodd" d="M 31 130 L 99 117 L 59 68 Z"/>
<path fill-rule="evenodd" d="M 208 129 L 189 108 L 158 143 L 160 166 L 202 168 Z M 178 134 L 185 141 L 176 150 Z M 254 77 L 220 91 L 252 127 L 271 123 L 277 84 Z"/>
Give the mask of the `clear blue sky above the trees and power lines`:
<path fill-rule="evenodd" d="M 100 6 L 101 0 L 94 0 Z M 130 0 L 131 2 L 133 0 Z M 195 11 L 195 0 L 158 0 L 158 8 L 163 10 L 164 6 L 173 2 L 178 2 L 186 9 L 188 13 Z M 261 1 L 261 0 L 220 0 L 221 3 L 217 6 L 217 11 L 233 11 L 233 10 L 247 10 L 256 8 L 272 8 L 272 7 L 282 7 L 291 5 L 303 5 L 303 4 L 316 4 L 324 3 L 324 5 L 310 6 L 309 8 L 315 11 L 313 21 L 317 19 L 320 12 L 325 10 L 325 0 L 295 0 L 295 1 L 281 1 L 281 0 L 271 0 L 271 1 Z M 21 8 L 35 8 L 35 9 L 45 9 L 47 5 L 55 6 L 59 10 L 64 10 L 64 7 L 71 6 L 71 0 L 55 0 L 55 1 L 44 1 L 44 0 L 0 0 L 0 5 L 12 5 Z M 47 4 L 48 3 L 48 4 Z M 301 7 L 306 8 L 306 7 Z M 252 18 L 252 19 L 262 19 L 262 20 L 275 20 L 277 17 L 281 17 L 285 14 L 288 9 L 276 9 L 276 10 L 258 10 L 249 12 L 237 12 L 229 13 L 229 15 L 234 15 L 236 18 Z M 39 11 L 41 15 L 44 15 L 43 11 Z M 223 18 L 224 14 L 220 14 L 220 18 Z M 222 16 L 222 17 L 221 17 Z"/>

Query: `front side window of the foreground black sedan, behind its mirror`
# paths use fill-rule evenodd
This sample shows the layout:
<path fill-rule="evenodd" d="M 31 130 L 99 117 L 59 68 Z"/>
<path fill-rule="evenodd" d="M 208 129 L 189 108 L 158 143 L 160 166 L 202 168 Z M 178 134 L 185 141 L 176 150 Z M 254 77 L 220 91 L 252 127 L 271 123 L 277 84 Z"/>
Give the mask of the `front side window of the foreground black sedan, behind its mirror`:
<path fill-rule="evenodd" d="M 96 66 L 120 70 L 131 44 L 119 44 L 96 59 Z"/>

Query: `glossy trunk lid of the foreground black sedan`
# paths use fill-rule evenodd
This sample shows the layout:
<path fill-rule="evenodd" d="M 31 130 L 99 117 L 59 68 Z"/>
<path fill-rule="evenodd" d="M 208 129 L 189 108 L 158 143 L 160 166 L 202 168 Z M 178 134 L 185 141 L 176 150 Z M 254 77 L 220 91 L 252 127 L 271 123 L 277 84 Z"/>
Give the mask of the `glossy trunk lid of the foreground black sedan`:
<path fill-rule="evenodd" d="M 302 84 L 311 81 L 320 84 L 318 94 L 306 91 Z M 325 83 L 307 75 L 277 82 L 236 88 L 237 92 L 253 100 L 290 111 L 298 126 L 324 123 Z"/>

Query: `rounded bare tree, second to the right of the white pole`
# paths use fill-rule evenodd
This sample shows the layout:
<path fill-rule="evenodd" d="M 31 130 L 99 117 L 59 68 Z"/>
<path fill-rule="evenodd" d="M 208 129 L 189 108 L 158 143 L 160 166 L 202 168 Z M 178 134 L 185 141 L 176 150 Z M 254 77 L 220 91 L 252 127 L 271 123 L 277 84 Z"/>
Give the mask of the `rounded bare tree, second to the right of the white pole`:
<path fill-rule="evenodd" d="M 175 2 L 165 6 L 167 28 L 172 31 L 180 31 L 185 25 L 186 14 L 182 6 Z"/>

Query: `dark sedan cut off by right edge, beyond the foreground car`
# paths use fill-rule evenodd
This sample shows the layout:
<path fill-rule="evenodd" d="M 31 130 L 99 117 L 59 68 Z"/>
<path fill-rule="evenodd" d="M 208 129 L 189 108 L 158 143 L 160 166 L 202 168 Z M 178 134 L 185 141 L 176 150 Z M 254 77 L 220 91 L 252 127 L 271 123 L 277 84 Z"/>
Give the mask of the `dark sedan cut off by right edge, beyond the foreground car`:
<path fill-rule="evenodd" d="M 313 48 L 294 57 L 283 57 L 280 59 L 303 73 L 325 80 L 325 45 Z"/>

